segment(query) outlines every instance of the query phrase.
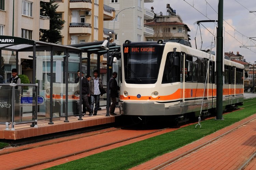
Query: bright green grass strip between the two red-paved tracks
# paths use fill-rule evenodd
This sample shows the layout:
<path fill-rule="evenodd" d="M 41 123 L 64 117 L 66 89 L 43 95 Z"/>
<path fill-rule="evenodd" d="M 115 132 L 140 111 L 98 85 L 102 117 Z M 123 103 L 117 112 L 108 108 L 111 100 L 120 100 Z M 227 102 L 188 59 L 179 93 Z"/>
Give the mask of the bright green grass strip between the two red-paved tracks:
<path fill-rule="evenodd" d="M 202 121 L 201 128 L 195 128 L 195 125 L 186 126 L 173 132 L 90 155 L 48 169 L 129 169 L 255 114 L 255 103 L 256 99 L 245 100 L 242 106 L 244 109 L 223 115 L 224 120 L 210 119 Z"/>

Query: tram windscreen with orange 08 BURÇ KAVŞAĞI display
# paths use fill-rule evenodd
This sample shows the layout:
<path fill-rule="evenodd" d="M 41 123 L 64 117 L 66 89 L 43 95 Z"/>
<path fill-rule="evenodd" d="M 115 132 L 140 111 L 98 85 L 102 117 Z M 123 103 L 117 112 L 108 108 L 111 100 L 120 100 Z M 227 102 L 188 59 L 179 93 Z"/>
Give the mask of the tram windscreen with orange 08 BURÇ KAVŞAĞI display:
<path fill-rule="evenodd" d="M 128 47 L 124 52 L 125 81 L 131 84 L 156 83 L 163 47 Z"/>

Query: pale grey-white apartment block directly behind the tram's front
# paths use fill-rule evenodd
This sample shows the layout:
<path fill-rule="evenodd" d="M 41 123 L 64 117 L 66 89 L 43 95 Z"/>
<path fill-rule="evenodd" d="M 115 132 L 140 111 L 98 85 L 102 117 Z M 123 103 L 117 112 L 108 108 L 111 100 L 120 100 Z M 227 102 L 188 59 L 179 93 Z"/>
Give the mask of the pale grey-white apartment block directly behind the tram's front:
<path fill-rule="evenodd" d="M 144 3 L 154 0 L 109 0 L 109 6 L 115 8 L 115 19 L 106 23 L 115 32 L 114 42 L 121 45 L 125 40 L 144 41 L 145 36 L 153 36 L 154 30 L 144 26 L 145 19 L 153 19 L 152 10 L 144 7 Z"/>

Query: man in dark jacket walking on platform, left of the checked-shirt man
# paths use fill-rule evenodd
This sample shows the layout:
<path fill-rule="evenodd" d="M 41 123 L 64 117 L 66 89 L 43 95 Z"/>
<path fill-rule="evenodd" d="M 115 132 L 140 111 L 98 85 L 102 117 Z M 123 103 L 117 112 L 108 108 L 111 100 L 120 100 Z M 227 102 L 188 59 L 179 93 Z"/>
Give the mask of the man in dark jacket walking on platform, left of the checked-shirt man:
<path fill-rule="evenodd" d="M 75 80 L 75 83 L 79 82 L 80 79 L 80 71 L 77 71 L 78 78 Z M 91 107 L 88 102 L 88 98 L 90 97 L 90 87 L 89 82 L 86 78 L 83 77 L 84 73 L 82 72 L 82 101 L 83 101 L 83 116 L 85 115 L 86 108 L 89 111 L 89 116 L 93 115 L 93 112 L 91 111 Z"/>

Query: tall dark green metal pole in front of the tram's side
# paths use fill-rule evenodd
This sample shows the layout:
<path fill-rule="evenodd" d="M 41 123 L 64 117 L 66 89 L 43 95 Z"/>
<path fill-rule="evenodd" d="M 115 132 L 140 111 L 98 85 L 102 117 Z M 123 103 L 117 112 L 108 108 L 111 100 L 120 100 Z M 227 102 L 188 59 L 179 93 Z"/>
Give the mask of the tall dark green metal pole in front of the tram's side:
<path fill-rule="evenodd" d="M 223 120 L 223 0 L 218 4 L 218 29 L 217 29 L 217 101 L 216 101 L 216 120 Z"/>

